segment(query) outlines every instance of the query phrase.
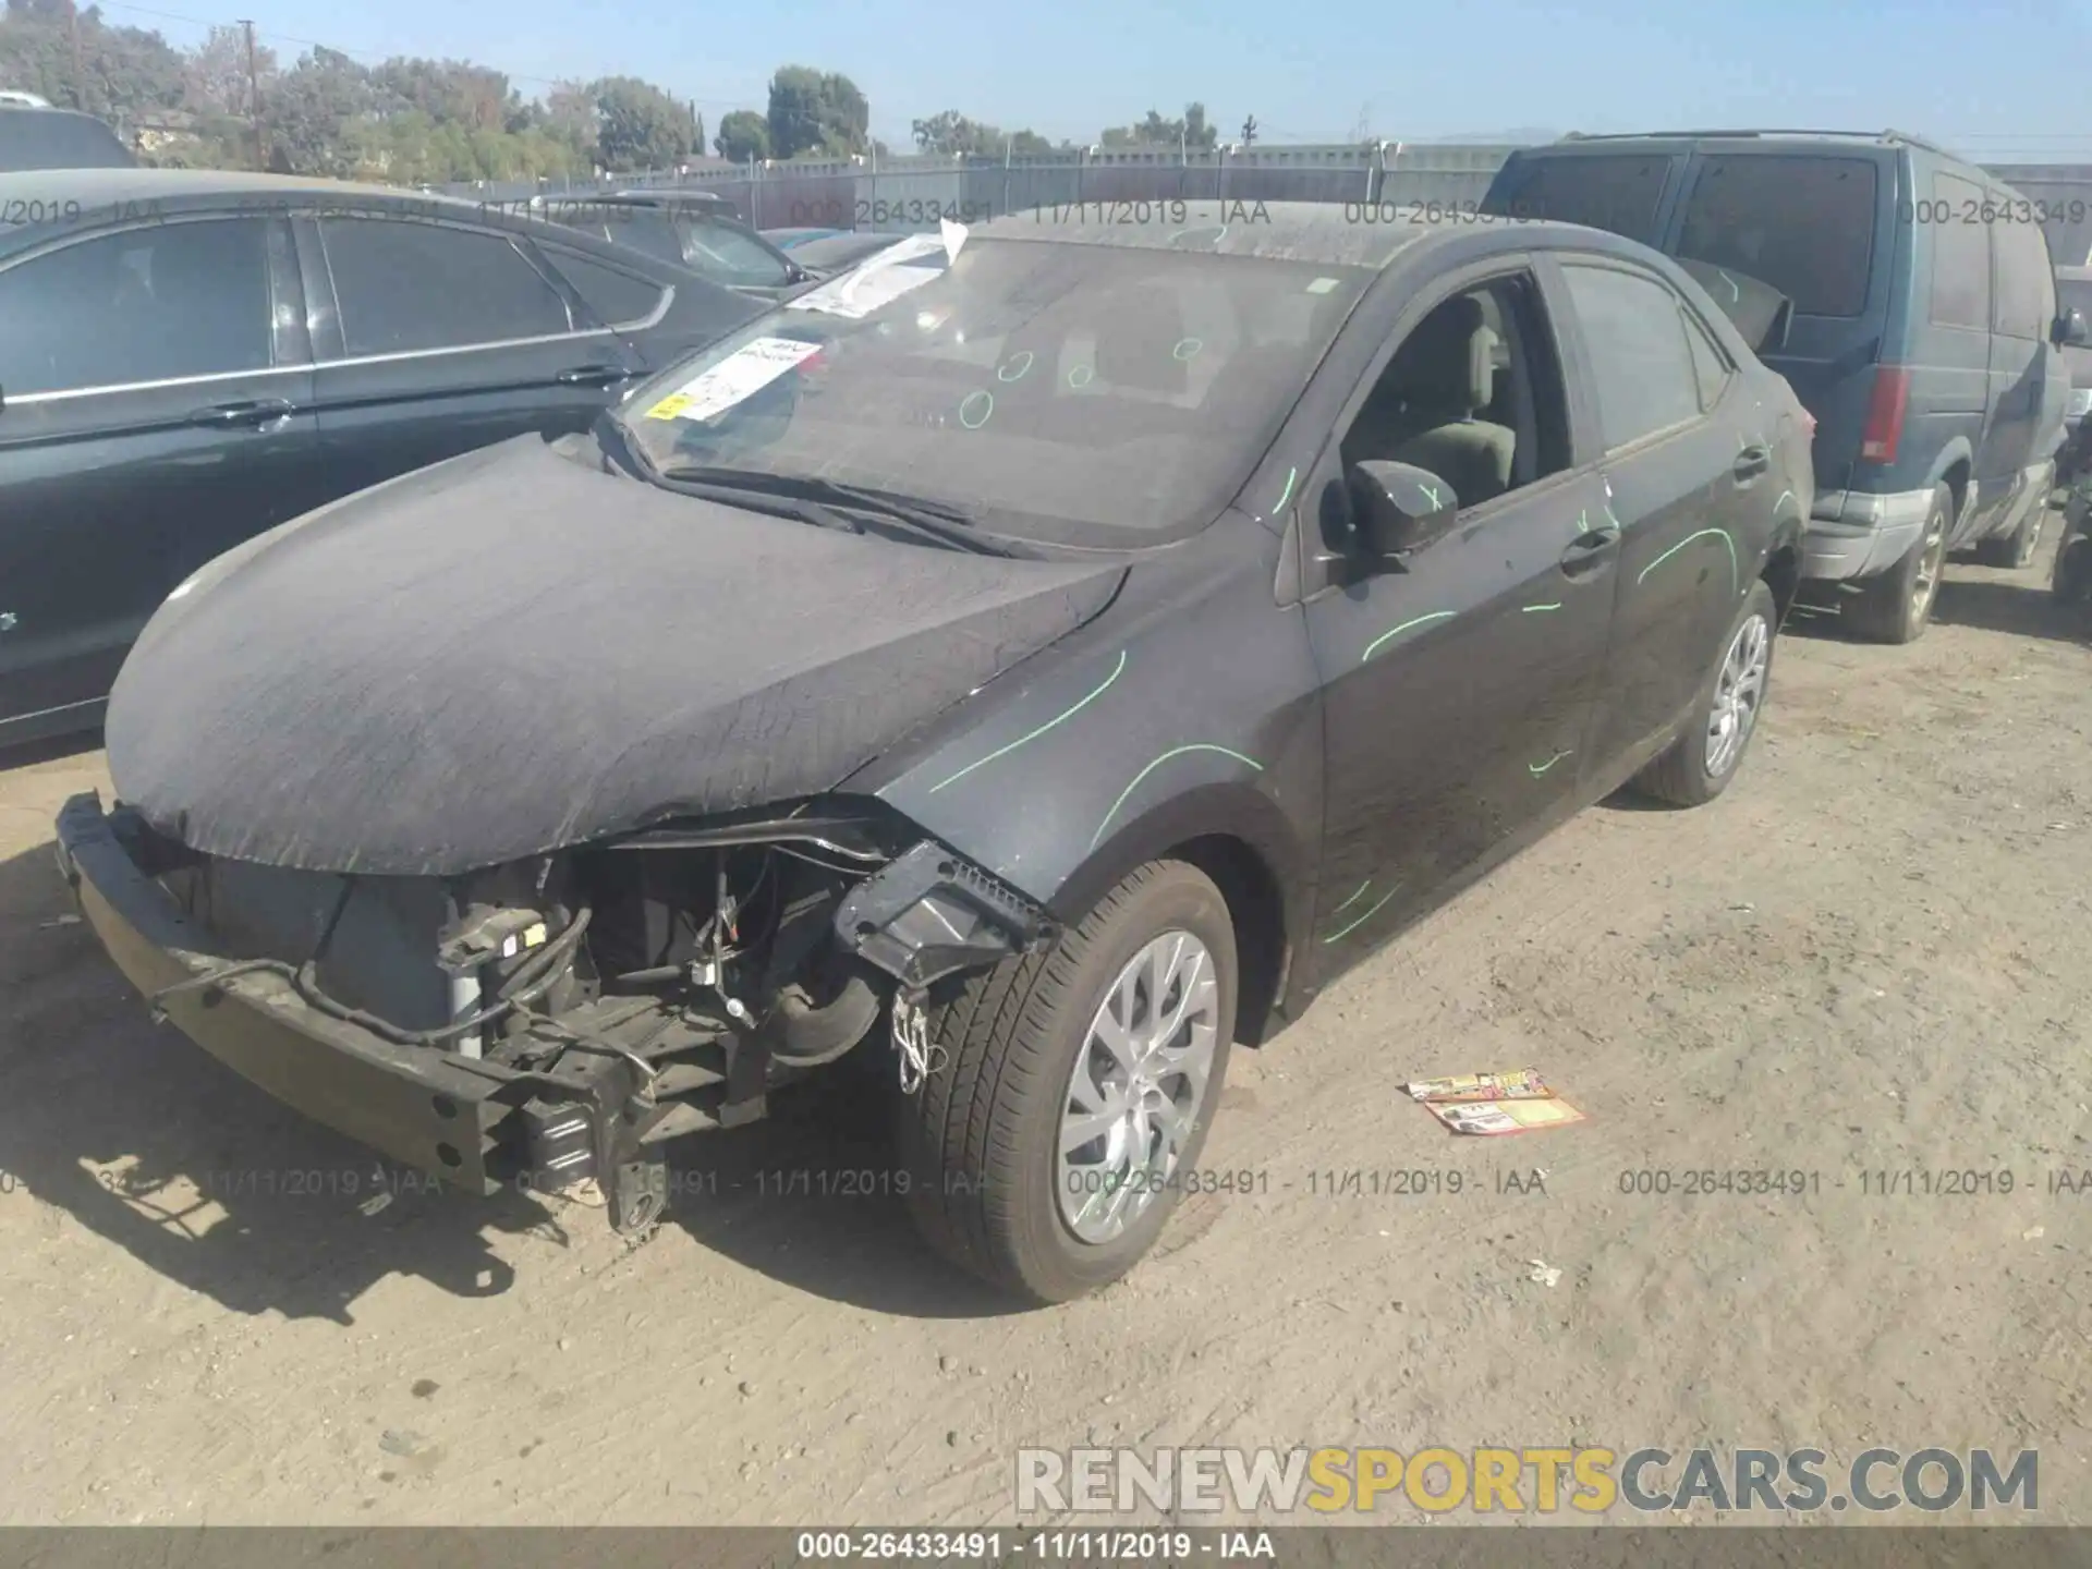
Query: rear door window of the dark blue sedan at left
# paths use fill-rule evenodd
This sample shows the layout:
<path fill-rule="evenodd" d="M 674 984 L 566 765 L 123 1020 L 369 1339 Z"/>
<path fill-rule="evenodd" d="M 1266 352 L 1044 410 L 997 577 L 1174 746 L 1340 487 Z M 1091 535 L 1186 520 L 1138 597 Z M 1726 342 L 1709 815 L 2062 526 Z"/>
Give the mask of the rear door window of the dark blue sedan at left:
<path fill-rule="evenodd" d="M 322 218 L 349 356 L 462 349 L 571 331 L 567 303 L 504 234 Z"/>

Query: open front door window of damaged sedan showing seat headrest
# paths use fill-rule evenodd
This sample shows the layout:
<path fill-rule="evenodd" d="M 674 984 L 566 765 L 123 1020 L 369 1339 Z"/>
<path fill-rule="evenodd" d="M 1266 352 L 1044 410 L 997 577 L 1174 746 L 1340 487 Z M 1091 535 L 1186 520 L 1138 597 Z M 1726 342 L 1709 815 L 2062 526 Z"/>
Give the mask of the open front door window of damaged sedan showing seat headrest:
<path fill-rule="evenodd" d="M 1529 272 L 1439 301 L 1395 349 L 1339 446 L 1406 462 L 1487 506 L 1569 467 L 1554 335 Z"/>

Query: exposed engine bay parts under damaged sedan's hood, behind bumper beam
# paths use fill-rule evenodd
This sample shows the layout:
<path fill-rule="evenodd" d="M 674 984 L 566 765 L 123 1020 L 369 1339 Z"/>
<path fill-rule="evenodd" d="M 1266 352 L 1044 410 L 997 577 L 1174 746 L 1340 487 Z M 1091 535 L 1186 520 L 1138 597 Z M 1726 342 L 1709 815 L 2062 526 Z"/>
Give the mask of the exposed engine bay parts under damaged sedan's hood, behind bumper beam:
<path fill-rule="evenodd" d="M 1050 937 L 1044 910 L 872 801 L 667 822 L 464 877 L 203 856 L 119 812 L 132 858 L 224 958 L 153 996 L 270 975 L 326 1019 L 490 1082 L 485 1182 L 598 1180 L 619 1230 L 661 1146 L 753 1121 L 858 1050 L 927 1069 L 929 987 Z M 452 1159 L 456 1157 L 456 1159 Z"/>

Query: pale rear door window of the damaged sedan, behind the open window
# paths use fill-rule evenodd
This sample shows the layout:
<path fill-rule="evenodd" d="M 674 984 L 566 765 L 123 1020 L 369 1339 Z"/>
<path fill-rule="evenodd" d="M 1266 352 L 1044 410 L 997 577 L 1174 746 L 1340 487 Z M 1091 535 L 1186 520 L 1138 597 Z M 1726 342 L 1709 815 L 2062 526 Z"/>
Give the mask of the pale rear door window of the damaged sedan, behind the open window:
<path fill-rule="evenodd" d="M 1615 268 L 1563 268 L 1584 328 L 1607 452 L 1701 416 L 1678 297 L 1653 278 Z"/>

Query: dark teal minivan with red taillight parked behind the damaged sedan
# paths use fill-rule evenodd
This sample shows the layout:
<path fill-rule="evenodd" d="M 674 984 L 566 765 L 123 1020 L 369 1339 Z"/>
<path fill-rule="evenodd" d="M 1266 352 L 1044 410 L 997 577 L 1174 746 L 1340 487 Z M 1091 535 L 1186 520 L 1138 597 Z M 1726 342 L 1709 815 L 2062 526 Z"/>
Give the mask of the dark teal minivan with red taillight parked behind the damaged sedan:
<path fill-rule="evenodd" d="M 2036 203 L 1897 132 L 1571 136 L 1510 155 L 1506 220 L 1590 224 L 1787 297 L 1759 358 L 1816 416 L 1805 575 L 1881 642 L 1931 619 L 1954 550 L 2025 565 L 2069 402 Z"/>

